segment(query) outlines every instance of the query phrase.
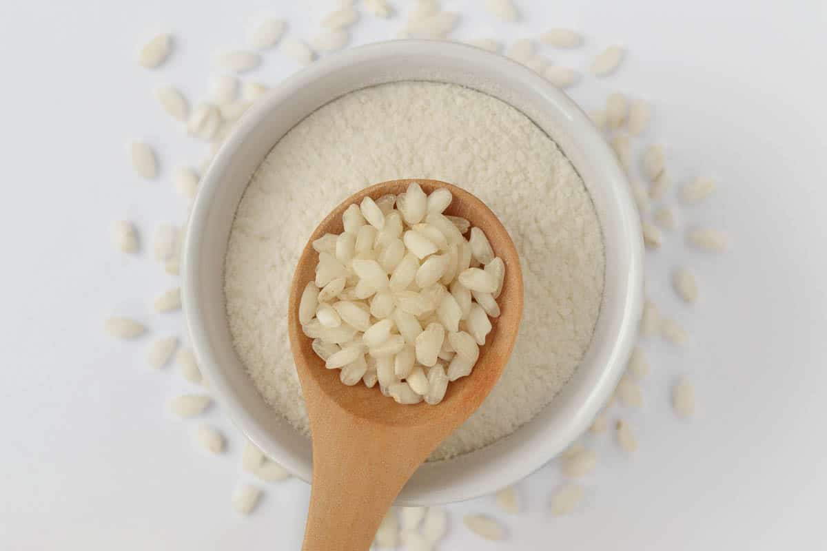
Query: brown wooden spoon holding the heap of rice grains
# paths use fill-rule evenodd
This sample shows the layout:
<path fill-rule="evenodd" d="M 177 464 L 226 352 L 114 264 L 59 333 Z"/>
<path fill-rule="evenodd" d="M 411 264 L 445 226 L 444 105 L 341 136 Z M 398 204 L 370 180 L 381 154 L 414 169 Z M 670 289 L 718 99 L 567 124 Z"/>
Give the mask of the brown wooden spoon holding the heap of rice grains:
<path fill-rule="evenodd" d="M 412 182 L 426 193 L 448 188 L 445 214 L 462 216 L 485 232 L 505 264 L 500 317 L 470 376 L 448 384 L 437 406 L 400 405 L 379 388 L 347 387 L 337 369 L 326 369 L 299 323 L 299 300 L 312 281 L 318 254 L 313 241 L 340 234 L 342 212 L 362 198 L 399 194 Z M 289 335 L 313 435 L 313 485 L 305 551 L 366 551 L 405 482 L 434 449 L 471 415 L 494 387 L 509 359 L 523 315 L 523 273 L 508 232 L 485 203 L 464 189 L 437 180 L 393 180 L 361 190 L 336 207 L 313 231 L 290 287 Z"/>

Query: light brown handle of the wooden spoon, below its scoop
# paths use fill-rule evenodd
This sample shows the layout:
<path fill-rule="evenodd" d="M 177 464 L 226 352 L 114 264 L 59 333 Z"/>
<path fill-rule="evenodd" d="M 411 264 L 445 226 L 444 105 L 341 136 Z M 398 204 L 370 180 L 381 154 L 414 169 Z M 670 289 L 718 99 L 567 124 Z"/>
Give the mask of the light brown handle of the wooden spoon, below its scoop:
<path fill-rule="evenodd" d="M 314 413 L 313 481 L 302 549 L 366 551 L 405 482 L 438 440 L 411 434 L 421 428 L 366 422 L 337 406 Z"/>

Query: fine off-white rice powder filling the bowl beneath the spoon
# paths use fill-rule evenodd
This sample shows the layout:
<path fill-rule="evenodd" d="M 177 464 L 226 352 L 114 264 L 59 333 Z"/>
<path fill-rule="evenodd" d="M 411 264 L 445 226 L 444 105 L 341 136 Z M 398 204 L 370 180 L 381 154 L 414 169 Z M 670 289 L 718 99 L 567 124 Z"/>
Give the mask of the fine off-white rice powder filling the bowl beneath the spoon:
<path fill-rule="evenodd" d="M 557 145 L 514 107 L 455 85 L 404 82 L 313 112 L 270 151 L 241 199 L 225 265 L 227 315 L 262 396 L 309 435 L 287 332 L 294 268 L 333 207 L 397 178 L 442 180 L 480 197 L 509 230 L 523 267 L 514 354 L 480 409 L 431 457 L 451 458 L 537 415 L 576 369 L 600 310 L 604 254 L 594 206 Z"/>

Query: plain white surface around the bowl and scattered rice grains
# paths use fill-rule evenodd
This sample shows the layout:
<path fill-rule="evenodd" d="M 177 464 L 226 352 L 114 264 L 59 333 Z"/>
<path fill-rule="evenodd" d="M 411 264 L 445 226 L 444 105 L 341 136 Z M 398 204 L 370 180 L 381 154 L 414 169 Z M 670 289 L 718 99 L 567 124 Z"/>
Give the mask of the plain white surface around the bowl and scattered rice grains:
<path fill-rule="evenodd" d="M 391 0 L 404 6 L 404 0 Z M 479 2 L 481 4 L 481 2 Z M 611 90 L 656 109 L 648 140 L 667 149 L 677 180 L 710 174 L 719 190 L 686 209 L 685 223 L 726 230 L 730 252 L 692 253 L 681 234 L 648 259 L 650 294 L 691 334 L 679 351 L 647 344 L 652 373 L 633 425 L 638 453 L 610 435 L 586 439 L 599 466 L 586 501 L 556 518 L 548 499 L 553 463 L 521 482 L 523 513 L 492 498 L 451 506 L 438 549 L 792 549 L 824 536 L 827 438 L 825 366 L 825 7 L 822 2 L 528 2 L 521 25 L 493 21 L 471 0 L 454 36 L 535 36 L 550 26 L 586 33 L 575 52 L 543 50 L 583 69 L 610 42 L 629 55 L 613 78 L 571 89 L 586 107 Z M 315 2 L 142 0 L 0 5 L 2 188 L 0 250 L 0 548 L 299 549 L 308 487 L 273 485 L 249 518 L 232 511 L 242 480 L 242 439 L 220 411 L 208 420 L 231 435 L 229 453 L 194 444 L 197 422 L 173 420 L 165 402 L 192 392 L 174 369 L 146 366 L 150 338 L 103 337 L 111 314 L 136 316 L 154 336 L 182 332 L 179 315 L 151 314 L 152 298 L 177 285 L 149 261 L 146 242 L 185 203 L 171 167 L 195 164 L 198 148 L 151 97 L 158 83 L 203 93 L 210 54 L 243 45 L 251 15 L 267 8 L 310 36 L 327 9 Z M 402 19 L 365 16 L 356 42 L 391 38 Z M 151 31 L 174 32 L 170 63 L 137 67 Z M 297 69 L 273 51 L 256 78 L 275 83 Z M 135 178 L 127 144 L 160 151 L 161 178 Z M 140 226 L 140 258 L 118 254 L 112 221 Z M 669 270 L 690 266 L 700 300 L 681 305 Z M 287 353 L 285 351 L 285 353 Z M 677 421 L 668 387 L 696 384 L 698 415 Z M 614 418 L 614 417 L 613 417 Z M 489 543 L 461 525 L 488 512 L 509 527 Z M 815 545 L 814 545 L 815 544 Z"/>

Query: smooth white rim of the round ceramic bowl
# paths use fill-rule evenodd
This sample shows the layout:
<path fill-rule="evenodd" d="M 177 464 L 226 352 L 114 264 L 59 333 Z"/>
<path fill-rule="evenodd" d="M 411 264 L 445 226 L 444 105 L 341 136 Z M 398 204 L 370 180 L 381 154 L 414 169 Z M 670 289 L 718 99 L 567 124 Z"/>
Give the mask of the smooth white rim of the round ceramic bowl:
<path fill-rule="evenodd" d="M 588 116 L 586 116 L 581 108 L 578 107 L 571 98 L 567 97 L 565 93 L 554 88 L 552 84 L 547 83 L 542 77 L 534 74 L 531 69 L 511 59 L 476 48 L 475 46 L 454 42 L 437 40 L 390 40 L 342 50 L 341 52 L 314 62 L 312 65 L 309 65 L 288 78 L 284 78 L 275 88 L 271 88 L 264 97 L 261 97 L 241 116 L 241 119 L 233 127 L 232 132 L 213 159 L 213 163 L 206 173 L 204 173 L 189 218 L 189 230 L 186 232 L 184 241 L 183 266 L 181 270 L 184 315 L 189 329 L 190 340 L 196 357 L 198 358 L 198 363 L 203 369 L 205 377 L 211 383 L 211 389 L 218 397 L 218 400 L 222 401 L 222 405 L 227 406 L 227 412 L 233 424 L 237 425 L 249 439 L 256 444 L 266 444 L 260 445 L 260 447 L 265 447 L 266 451 L 271 452 L 271 454 L 273 451 L 282 454 L 281 456 L 275 454 L 274 459 L 281 463 L 284 468 L 294 473 L 295 476 L 301 478 L 304 482 L 309 482 L 312 465 L 308 465 L 306 462 L 288 454 L 283 446 L 271 438 L 270 434 L 258 424 L 251 415 L 251 412 L 248 411 L 245 403 L 241 400 L 241 397 L 238 397 L 235 392 L 223 383 L 219 383 L 222 382 L 222 368 L 213 357 L 213 354 L 210 353 L 211 345 L 209 344 L 208 329 L 204 320 L 201 304 L 202 298 L 200 297 L 201 293 L 199 291 L 199 285 L 197 284 L 197 266 L 201 262 L 203 252 L 204 228 L 208 223 L 216 190 L 222 183 L 220 175 L 228 168 L 233 154 L 244 145 L 246 138 L 261 124 L 261 121 L 263 121 L 267 114 L 280 105 L 284 97 L 299 92 L 304 86 L 312 85 L 313 81 L 327 74 L 347 70 L 347 67 L 351 64 L 356 64 L 363 60 L 376 60 L 385 57 L 393 58 L 397 55 L 434 55 L 435 57 L 456 55 L 458 58 L 476 57 L 479 58 L 481 62 L 499 65 L 504 71 L 517 72 L 523 80 L 530 80 L 533 87 L 542 87 L 543 93 L 548 97 L 547 102 L 549 105 L 547 107 L 552 107 L 553 104 L 553 106 L 562 110 L 563 115 L 566 116 L 566 120 L 574 127 L 573 131 L 580 135 L 581 140 L 589 142 L 588 156 L 590 159 L 595 164 L 600 164 L 605 167 L 602 171 L 608 173 L 609 181 L 613 184 L 614 207 L 619 214 L 619 220 L 622 222 L 621 225 L 628 238 L 625 240 L 626 245 L 628 245 L 628 250 L 625 251 L 625 254 L 629 254 L 630 258 L 628 284 L 626 288 L 623 289 L 625 297 L 623 316 L 622 321 L 620 321 L 621 326 L 617 333 L 617 338 L 612 347 L 611 354 L 609 354 L 610 358 L 607 359 L 603 371 L 595 381 L 595 385 L 588 393 L 586 400 L 581 403 L 579 410 L 576 412 L 576 416 L 569 421 L 564 434 L 560 435 L 554 442 L 538 442 L 538 449 L 535 450 L 536 453 L 523 454 L 524 457 L 519 458 L 519 460 L 514 458 L 514 460 L 509 461 L 509 464 L 505 467 L 498 464 L 495 469 L 485 468 L 485 476 L 477 476 L 473 483 L 466 482 L 457 485 L 457 487 L 443 489 L 442 491 L 418 492 L 413 496 L 405 496 L 405 491 L 403 490 L 398 500 L 398 504 L 400 505 L 429 505 L 464 501 L 476 496 L 490 494 L 515 481 L 519 481 L 523 477 L 538 470 L 538 468 L 543 467 L 545 463 L 559 453 L 559 451 L 561 451 L 559 443 L 562 439 L 567 439 L 570 443 L 588 428 L 593 417 L 600 411 L 600 408 L 605 404 L 605 401 L 608 400 L 611 393 L 614 392 L 614 386 L 624 372 L 626 360 L 629 358 L 637 335 L 638 321 L 643 310 L 643 240 L 641 237 L 638 211 L 633 202 L 628 179 L 624 170 L 620 168 L 614 153 L 609 149 L 609 145 L 606 144 L 605 139 L 600 135 L 600 131 L 595 128 Z M 435 78 L 435 80 L 438 79 Z M 506 100 L 502 101 L 505 102 Z M 519 110 L 519 107 L 514 108 Z M 305 113 L 304 116 L 308 114 L 309 113 Z M 274 145 L 275 143 L 277 142 L 274 142 Z M 580 173 L 581 170 L 578 165 L 571 159 L 570 162 L 577 172 Z M 602 225 L 602 220 L 600 227 L 601 232 L 603 232 L 605 229 Z M 224 246 L 226 247 L 226 244 Z M 598 321 L 602 315 L 604 302 L 605 297 L 601 299 L 601 311 Z M 588 352 L 591 347 L 592 344 L 590 343 L 586 352 Z M 566 383 L 566 385 L 567 384 L 568 383 Z M 564 385 L 564 388 L 566 385 Z M 515 433 L 518 431 L 519 429 L 516 430 Z M 509 438 L 509 436 L 504 438 Z M 486 448 L 489 447 L 490 446 L 487 446 Z M 486 448 L 481 450 L 485 450 Z M 556 451 L 554 451 L 555 449 Z M 480 450 L 471 452 L 471 454 L 477 454 L 478 452 L 480 452 Z M 460 456 L 460 458 L 462 457 L 465 456 Z M 448 459 L 446 461 L 451 462 L 455 461 L 455 459 Z M 428 463 L 426 463 L 426 465 L 428 465 Z M 492 470 L 494 472 L 492 472 Z"/>

